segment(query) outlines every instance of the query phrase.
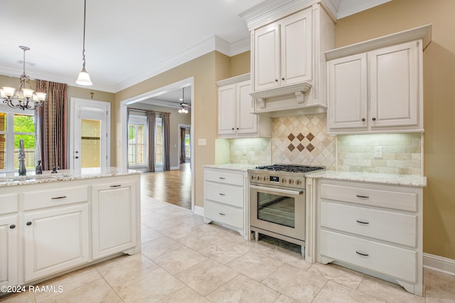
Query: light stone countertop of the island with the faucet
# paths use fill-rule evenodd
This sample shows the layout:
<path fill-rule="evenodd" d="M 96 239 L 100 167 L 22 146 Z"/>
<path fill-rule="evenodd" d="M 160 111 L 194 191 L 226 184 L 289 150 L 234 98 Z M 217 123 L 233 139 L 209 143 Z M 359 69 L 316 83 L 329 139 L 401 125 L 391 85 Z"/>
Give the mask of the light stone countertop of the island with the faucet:
<path fill-rule="evenodd" d="M 19 176 L 18 172 L 5 172 L 0 174 L 0 187 L 137 174 L 141 174 L 141 172 L 137 170 L 121 170 L 119 167 L 82 168 L 80 171 L 57 170 L 56 174 L 46 170 L 43 175 L 35 175 L 35 172 L 32 171 L 28 172 L 26 176 Z"/>

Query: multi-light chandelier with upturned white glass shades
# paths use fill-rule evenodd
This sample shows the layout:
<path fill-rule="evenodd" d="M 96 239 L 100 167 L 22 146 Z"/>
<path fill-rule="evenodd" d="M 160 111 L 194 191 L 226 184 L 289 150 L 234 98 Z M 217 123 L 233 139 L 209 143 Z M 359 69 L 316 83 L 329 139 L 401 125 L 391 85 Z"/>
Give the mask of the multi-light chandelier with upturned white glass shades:
<path fill-rule="evenodd" d="M 7 104 L 13 109 L 36 109 L 43 105 L 45 100 L 44 92 L 35 92 L 30 85 L 30 77 L 26 74 L 26 51 L 30 50 L 26 46 L 19 46 L 23 50 L 23 74 L 19 78 L 19 88 L 16 90 L 14 87 L 2 87 L 0 89 L 0 96 L 3 103 Z M 28 88 L 26 86 L 28 85 Z"/>

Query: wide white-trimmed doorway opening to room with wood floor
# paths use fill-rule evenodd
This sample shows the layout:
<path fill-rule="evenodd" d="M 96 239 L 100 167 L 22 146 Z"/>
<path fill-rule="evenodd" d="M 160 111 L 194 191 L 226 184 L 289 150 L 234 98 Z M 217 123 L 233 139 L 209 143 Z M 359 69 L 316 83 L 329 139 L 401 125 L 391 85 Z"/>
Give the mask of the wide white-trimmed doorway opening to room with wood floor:
<path fill-rule="evenodd" d="M 194 172 L 193 167 L 193 77 L 169 84 L 166 87 L 154 89 L 121 103 L 122 167 L 142 170 L 141 194 L 160 199 L 163 202 L 176 204 L 186 209 L 194 209 Z M 184 100 L 168 99 L 172 95 L 181 96 Z M 181 113 L 181 103 L 189 109 L 187 114 Z M 154 126 L 145 124 L 147 111 L 154 111 L 156 116 Z M 165 135 L 164 124 L 159 114 L 169 113 L 168 135 Z M 186 116 L 186 120 L 182 120 Z M 141 122 L 142 121 L 142 122 Z M 182 123 L 183 121 L 183 123 Z M 181 126 L 185 126 L 184 141 L 181 140 Z M 149 131 L 153 127 L 154 136 L 149 139 Z M 144 134 L 143 134 L 144 133 Z M 163 170 L 165 155 L 163 154 L 165 136 L 168 138 L 168 160 L 171 161 L 170 170 Z M 145 137 L 145 139 L 144 139 Z M 149 141 L 153 141 L 151 144 Z M 183 143 L 182 143 L 183 142 Z M 183 144 L 183 146 L 182 146 Z M 149 152 L 153 148 L 155 160 L 154 172 L 149 172 Z M 185 162 L 181 162 L 181 151 L 185 150 Z M 144 159 L 145 158 L 145 159 Z"/>

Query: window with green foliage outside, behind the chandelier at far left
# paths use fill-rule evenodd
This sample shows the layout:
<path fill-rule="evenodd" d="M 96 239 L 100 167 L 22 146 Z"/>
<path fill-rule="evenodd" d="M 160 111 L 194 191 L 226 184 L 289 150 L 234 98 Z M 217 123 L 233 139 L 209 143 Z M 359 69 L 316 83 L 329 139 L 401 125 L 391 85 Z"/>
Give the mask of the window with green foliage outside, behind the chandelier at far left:
<path fill-rule="evenodd" d="M 20 111 L 0 106 L 0 170 L 12 171 L 19 167 L 19 141 L 26 150 L 26 168 L 35 168 L 34 111 Z"/>

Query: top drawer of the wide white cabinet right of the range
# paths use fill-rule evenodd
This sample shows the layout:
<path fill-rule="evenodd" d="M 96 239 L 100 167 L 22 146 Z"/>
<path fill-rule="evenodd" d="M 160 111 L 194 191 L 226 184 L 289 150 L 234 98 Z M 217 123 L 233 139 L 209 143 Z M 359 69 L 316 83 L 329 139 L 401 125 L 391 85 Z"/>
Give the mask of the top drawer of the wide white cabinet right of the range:
<path fill-rule="evenodd" d="M 321 184 L 321 198 L 403 211 L 417 211 L 417 194 L 412 192 Z"/>

